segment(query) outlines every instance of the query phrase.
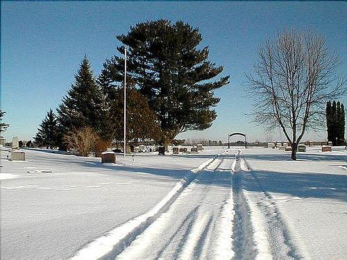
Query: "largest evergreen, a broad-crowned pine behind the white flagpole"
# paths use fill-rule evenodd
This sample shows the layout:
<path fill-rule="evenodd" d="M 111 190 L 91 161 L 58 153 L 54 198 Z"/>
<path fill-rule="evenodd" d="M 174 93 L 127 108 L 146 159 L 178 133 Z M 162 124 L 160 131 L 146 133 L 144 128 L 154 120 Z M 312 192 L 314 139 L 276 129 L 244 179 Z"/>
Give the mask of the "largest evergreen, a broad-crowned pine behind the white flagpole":
<path fill-rule="evenodd" d="M 197 28 L 182 21 L 160 19 L 136 24 L 117 39 L 128 46 L 128 81 L 149 100 L 160 123 L 160 143 L 168 144 L 180 132 L 204 130 L 217 116 L 214 89 L 228 84 L 229 76 L 211 81 L 223 71 L 208 61 L 208 47 Z M 124 78 L 124 46 L 120 56 L 106 60 L 99 81 L 104 88 Z"/>

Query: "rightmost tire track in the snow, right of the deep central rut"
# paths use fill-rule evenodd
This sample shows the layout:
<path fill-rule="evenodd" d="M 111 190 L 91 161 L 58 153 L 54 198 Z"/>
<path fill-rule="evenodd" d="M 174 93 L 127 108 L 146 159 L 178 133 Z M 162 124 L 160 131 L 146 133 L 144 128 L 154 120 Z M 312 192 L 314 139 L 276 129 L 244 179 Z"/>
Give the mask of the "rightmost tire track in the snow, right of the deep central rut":
<path fill-rule="evenodd" d="M 274 259 L 302 259 L 298 253 L 298 249 L 292 243 L 291 236 L 282 220 L 280 211 L 276 206 L 276 202 L 273 197 L 265 191 L 260 183 L 260 180 L 252 171 L 246 160 L 242 157 L 240 160 L 240 168 L 244 172 L 249 172 L 253 177 L 253 180 L 260 188 L 260 200 L 252 202 L 248 201 L 248 204 L 252 204 L 253 215 L 257 215 L 258 220 L 262 220 L 258 229 L 262 229 L 262 232 L 266 232 L 267 241 L 269 241 L 269 250 Z M 247 194 L 248 192 L 246 192 Z M 249 198 L 249 196 L 247 196 Z M 259 227 L 260 226 L 260 227 Z M 264 236 L 262 234 L 262 236 Z"/>

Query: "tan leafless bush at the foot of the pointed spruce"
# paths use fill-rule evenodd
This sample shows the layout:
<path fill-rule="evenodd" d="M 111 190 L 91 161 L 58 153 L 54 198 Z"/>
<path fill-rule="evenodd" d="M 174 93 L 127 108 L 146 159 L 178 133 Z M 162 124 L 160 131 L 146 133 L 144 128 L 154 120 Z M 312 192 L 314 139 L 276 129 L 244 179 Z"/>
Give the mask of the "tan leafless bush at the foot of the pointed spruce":
<path fill-rule="evenodd" d="M 94 150 L 99 136 L 89 126 L 71 130 L 65 135 L 64 141 L 67 148 L 76 149 L 78 155 L 88 156 L 91 150 Z"/>

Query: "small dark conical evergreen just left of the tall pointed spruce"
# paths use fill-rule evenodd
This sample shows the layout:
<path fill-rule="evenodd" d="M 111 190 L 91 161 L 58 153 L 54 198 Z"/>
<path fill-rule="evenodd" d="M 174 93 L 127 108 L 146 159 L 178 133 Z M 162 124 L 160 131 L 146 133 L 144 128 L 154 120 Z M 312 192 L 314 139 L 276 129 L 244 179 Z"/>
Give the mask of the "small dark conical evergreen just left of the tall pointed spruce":
<path fill-rule="evenodd" d="M 46 146 L 46 148 L 55 148 L 58 143 L 58 121 L 53 110 L 47 112 L 46 117 L 40 123 L 34 137 L 38 146 Z"/>

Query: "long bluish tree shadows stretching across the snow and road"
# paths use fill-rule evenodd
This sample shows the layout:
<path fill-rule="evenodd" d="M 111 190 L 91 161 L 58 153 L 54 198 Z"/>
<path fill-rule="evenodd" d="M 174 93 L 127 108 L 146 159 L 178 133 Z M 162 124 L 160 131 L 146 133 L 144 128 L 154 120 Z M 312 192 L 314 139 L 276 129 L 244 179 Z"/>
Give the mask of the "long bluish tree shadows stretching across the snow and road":
<path fill-rule="evenodd" d="M 170 155 L 168 155 L 169 157 Z M 194 156 L 194 155 L 189 155 Z M 199 155 L 196 155 L 196 157 Z M 176 156 L 171 156 L 173 159 Z M 206 158 L 211 158 L 212 155 L 206 155 Z M 50 160 L 61 164 L 77 164 L 81 167 L 93 167 L 101 169 L 108 169 L 109 172 L 102 174 L 113 175 L 112 171 L 125 171 L 133 172 L 129 177 L 136 177 L 137 173 L 149 173 L 159 175 L 162 177 L 170 177 L 171 179 L 180 180 L 189 172 L 187 169 L 172 169 L 160 167 L 160 159 L 164 158 L 158 155 L 158 168 L 151 166 L 141 166 L 139 162 L 136 166 L 121 166 L 114 164 L 101 164 L 101 162 L 92 161 L 87 158 L 78 157 L 76 160 L 69 160 L 57 156 L 50 157 Z M 234 159 L 234 155 L 221 155 L 223 159 Z M 276 154 L 276 155 L 244 155 L 244 159 L 253 160 L 275 160 L 275 161 L 291 161 L 290 155 Z M 346 165 L 346 156 L 344 155 L 317 155 L 317 154 L 298 154 L 298 160 L 303 161 L 340 161 L 341 165 Z M 167 164 L 167 162 L 165 162 Z M 173 162 L 174 163 L 174 162 Z M 336 165 L 335 165 L 336 166 Z M 203 179 L 196 177 L 196 183 L 201 185 L 210 185 L 216 187 L 230 187 L 230 173 L 228 168 L 217 168 L 216 171 L 203 170 L 209 177 Z M 99 174 L 99 173 L 96 173 Z M 275 171 L 243 171 L 242 179 L 244 189 L 248 191 L 266 191 L 273 193 L 288 194 L 289 196 L 296 196 L 299 198 L 333 198 L 347 201 L 347 176 L 338 174 L 325 174 L 325 173 L 287 173 Z M 170 180 L 169 180 L 170 181 Z"/>

